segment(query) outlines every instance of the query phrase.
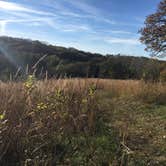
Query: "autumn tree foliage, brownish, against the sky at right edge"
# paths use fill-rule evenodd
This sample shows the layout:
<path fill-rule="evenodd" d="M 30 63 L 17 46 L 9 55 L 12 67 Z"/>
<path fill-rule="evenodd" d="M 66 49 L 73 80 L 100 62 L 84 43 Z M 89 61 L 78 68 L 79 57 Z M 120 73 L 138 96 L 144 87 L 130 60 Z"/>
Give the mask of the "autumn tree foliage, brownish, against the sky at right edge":
<path fill-rule="evenodd" d="M 156 13 L 146 18 L 145 27 L 140 32 L 140 40 L 152 56 L 166 56 L 166 0 L 160 2 Z"/>

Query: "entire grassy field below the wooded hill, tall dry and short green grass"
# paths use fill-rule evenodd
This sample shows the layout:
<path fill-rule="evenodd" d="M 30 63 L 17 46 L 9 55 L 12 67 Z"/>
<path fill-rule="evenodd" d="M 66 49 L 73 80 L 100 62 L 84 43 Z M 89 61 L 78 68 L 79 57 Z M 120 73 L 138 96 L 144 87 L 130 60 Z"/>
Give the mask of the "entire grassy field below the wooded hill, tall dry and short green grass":
<path fill-rule="evenodd" d="M 0 83 L 0 165 L 164 166 L 166 85 Z"/>

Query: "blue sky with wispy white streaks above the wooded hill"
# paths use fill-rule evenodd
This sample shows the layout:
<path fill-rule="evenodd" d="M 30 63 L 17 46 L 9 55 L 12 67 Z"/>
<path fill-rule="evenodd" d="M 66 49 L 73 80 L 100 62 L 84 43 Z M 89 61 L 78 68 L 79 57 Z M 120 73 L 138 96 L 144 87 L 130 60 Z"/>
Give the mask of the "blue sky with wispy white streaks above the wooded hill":
<path fill-rule="evenodd" d="M 138 31 L 160 0 L 0 0 L 0 36 L 148 56 Z"/>

